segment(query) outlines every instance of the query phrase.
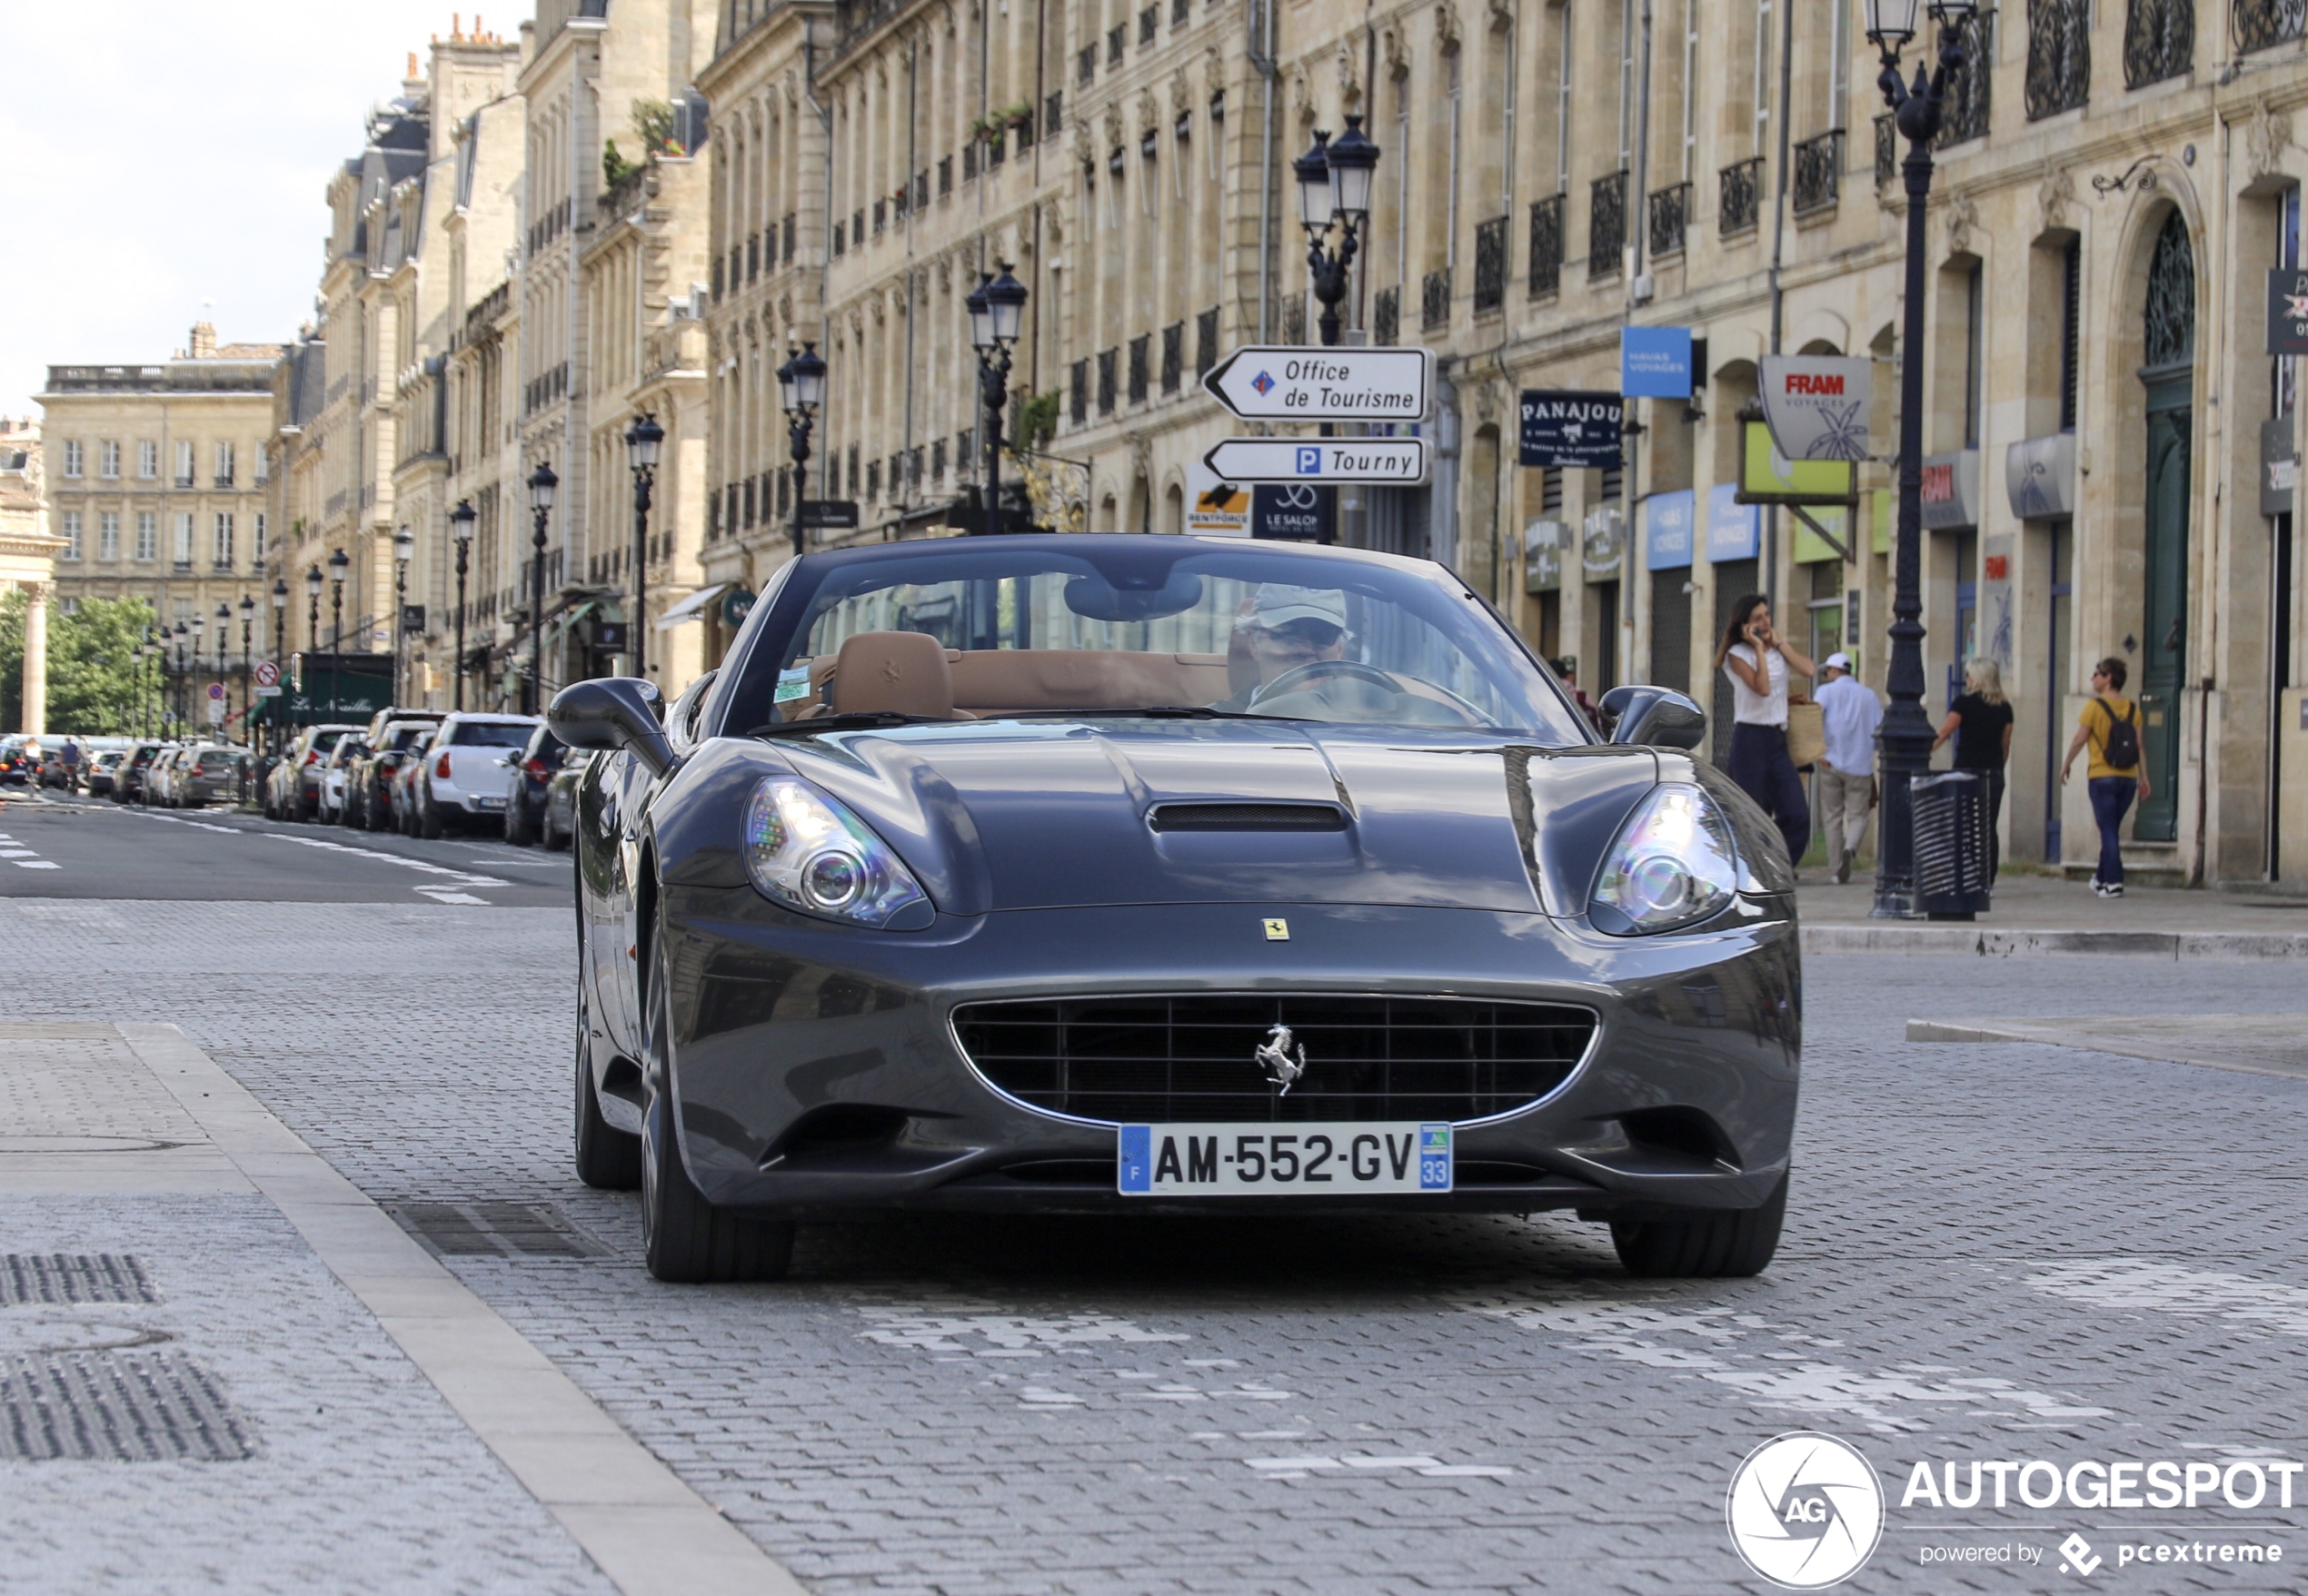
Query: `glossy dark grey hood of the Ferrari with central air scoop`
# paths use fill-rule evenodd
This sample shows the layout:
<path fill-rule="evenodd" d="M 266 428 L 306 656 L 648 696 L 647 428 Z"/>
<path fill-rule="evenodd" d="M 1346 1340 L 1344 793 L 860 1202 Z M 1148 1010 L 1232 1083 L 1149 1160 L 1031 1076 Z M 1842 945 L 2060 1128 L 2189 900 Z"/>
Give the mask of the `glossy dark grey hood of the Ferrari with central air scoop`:
<path fill-rule="evenodd" d="M 764 754 L 782 756 L 852 805 L 949 913 L 1322 902 L 1576 916 L 1599 851 L 1657 782 L 1641 747 L 1253 720 L 926 724 L 743 747 L 755 780 Z M 1172 803 L 1334 805 L 1346 823 L 1149 826 Z"/>

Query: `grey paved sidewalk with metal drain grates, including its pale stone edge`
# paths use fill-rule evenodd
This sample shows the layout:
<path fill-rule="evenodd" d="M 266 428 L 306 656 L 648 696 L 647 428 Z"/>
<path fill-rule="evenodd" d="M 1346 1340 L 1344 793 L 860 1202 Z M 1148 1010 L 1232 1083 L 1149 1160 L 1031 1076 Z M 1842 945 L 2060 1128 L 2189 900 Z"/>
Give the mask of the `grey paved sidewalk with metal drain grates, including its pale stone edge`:
<path fill-rule="evenodd" d="M 0 1121 L 0 1584 L 799 1596 L 175 1026 Z"/>

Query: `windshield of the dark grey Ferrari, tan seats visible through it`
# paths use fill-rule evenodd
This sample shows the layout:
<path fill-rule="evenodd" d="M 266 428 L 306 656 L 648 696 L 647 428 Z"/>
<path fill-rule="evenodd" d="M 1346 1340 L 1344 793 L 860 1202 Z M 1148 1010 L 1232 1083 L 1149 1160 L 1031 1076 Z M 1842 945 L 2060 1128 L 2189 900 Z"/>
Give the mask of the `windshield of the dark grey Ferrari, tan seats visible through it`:
<path fill-rule="evenodd" d="M 845 713 L 1193 710 L 1590 740 L 1459 581 L 1350 554 L 937 540 L 831 563 L 769 620 L 732 685 L 729 731 Z"/>

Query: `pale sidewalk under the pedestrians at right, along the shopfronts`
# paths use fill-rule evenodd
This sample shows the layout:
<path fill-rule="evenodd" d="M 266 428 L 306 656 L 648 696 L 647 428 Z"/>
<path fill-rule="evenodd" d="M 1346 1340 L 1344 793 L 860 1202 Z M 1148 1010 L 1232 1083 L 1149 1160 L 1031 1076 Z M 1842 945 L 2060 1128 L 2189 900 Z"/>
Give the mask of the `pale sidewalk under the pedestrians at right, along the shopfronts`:
<path fill-rule="evenodd" d="M 1874 876 L 1835 886 L 1800 872 L 1803 950 L 1904 955 L 2093 955 L 2149 959 L 2308 959 L 2308 899 L 2133 886 L 2093 897 L 2080 881 L 2006 874 L 1978 920 L 1869 920 Z"/>

